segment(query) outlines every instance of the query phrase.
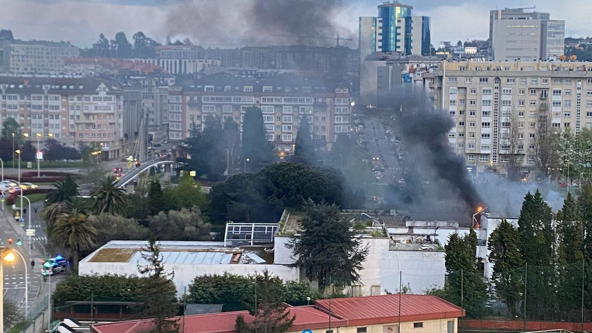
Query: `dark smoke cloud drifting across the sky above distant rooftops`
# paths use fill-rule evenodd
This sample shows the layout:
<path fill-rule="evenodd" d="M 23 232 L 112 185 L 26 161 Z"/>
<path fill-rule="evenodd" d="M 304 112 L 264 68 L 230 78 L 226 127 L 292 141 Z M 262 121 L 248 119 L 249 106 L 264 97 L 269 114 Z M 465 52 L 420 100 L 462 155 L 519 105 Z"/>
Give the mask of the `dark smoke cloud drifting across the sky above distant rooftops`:
<path fill-rule="evenodd" d="M 334 21 L 341 8 L 340 0 L 186 0 L 168 13 L 168 33 L 207 46 L 333 45 L 308 37 L 351 35 Z"/>

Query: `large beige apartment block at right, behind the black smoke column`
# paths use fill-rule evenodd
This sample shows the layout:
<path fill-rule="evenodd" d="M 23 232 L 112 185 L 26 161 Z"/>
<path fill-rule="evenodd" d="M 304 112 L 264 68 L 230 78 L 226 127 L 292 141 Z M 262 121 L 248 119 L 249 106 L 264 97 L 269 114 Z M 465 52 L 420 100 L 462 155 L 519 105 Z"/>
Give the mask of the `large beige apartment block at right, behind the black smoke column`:
<path fill-rule="evenodd" d="M 478 172 L 503 174 L 510 156 L 529 172 L 541 121 L 554 132 L 592 128 L 592 63 L 443 61 L 424 82 L 455 123 L 451 148 Z"/>

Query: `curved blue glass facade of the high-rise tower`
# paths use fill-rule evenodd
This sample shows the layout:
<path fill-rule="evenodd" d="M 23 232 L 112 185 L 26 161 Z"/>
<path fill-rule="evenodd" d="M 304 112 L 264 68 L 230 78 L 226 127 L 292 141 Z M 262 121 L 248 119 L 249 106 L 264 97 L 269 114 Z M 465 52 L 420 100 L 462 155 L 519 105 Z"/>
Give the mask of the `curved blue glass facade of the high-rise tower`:
<path fill-rule="evenodd" d="M 405 36 L 399 36 L 397 20 L 401 17 L 410 17 L 413 7 L 394 2 L 378 6 L 378 17 L 382 18 L 382 51 L 392 52 L 397 50 Z"/>

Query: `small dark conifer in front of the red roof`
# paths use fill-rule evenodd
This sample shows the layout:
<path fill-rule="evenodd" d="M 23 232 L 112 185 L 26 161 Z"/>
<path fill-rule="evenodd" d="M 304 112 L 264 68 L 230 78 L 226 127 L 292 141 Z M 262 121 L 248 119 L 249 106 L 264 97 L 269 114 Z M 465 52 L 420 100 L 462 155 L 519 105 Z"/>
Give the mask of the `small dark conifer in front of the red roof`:
<path fill-rule="evenodd" d="M 270 276 L 267 270 L 254 278 L 255 297 L 252 302 L 248 302 L 249 314 L 254 318 L 253 321 L 247 322 L 243 315 L 237 316 L 235 324 L 237 333 L 288 331 L 296 316 L 290 316 L 286 305 L 282 302 L 281 280 L 276 276 Z"/>

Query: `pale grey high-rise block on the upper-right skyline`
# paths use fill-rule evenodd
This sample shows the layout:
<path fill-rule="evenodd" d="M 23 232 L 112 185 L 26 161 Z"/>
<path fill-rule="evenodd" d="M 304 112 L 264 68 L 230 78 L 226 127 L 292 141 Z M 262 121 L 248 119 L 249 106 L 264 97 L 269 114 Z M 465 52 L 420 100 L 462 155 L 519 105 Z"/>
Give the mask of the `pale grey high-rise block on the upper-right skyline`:
<path fill-rule="evenodd" d="M 564 54 L 565 21 L 525 9 L 490 11 L 490 54 L 494 60 L 548 60 Z"/>

